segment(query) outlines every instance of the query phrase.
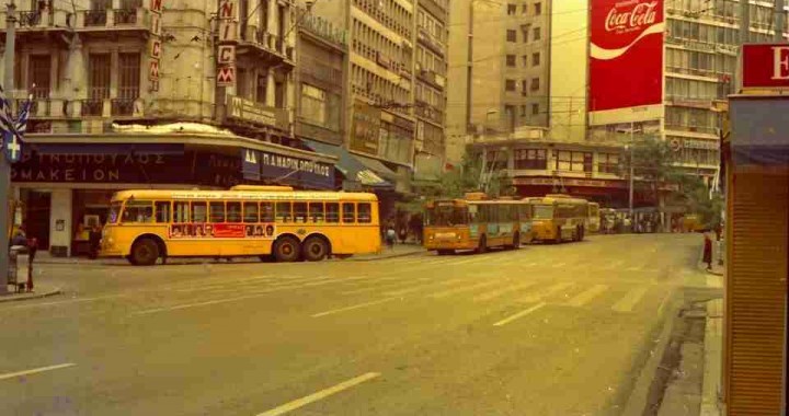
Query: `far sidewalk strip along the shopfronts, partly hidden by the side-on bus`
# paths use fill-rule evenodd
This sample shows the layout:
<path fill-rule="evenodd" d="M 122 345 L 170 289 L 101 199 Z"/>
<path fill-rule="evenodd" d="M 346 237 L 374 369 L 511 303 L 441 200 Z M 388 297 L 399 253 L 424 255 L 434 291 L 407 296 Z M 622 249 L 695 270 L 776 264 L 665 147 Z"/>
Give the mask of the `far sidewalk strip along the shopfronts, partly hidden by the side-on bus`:
<path fill-rule="evenodd" d="M 422 245 L 405 243 L 395 244 L 393 249 L 382 246 L 378 254 L 359 254 L 345 259 L 331 259 L 332 262 L 369 262 L 382 258 L 395 258 L 409 255 L 426 253 Z M 198 263 L 219 263 L 214 259 L 206 258 L 168 258 L 168 264 L 198 264 Z M 226 263 L 224 259 L 221 263 Z M 231 263 L 250 263 L 260 262 L 258 257 L 235 257 Z M 35 264 L 72 264 L 72 265 L 92 265 L 92 266 L 128 266 L 129 263 L 123 258 L 98 258 L 90 259 L 87 257 L 53 257 L 48 252 L 38 252 L 36 254 Z"/>

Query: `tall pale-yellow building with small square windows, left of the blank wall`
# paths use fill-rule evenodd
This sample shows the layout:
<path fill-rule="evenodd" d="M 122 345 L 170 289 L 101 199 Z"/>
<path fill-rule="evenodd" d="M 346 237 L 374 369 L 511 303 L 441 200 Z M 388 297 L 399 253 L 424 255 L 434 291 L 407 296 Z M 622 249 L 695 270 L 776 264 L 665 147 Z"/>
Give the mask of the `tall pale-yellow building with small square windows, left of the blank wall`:
<path fill-rule="evenodd" d="M 468 132 L 548 126 L 549 0 L 451 3 L 447 136 L 449 159 Z"/>

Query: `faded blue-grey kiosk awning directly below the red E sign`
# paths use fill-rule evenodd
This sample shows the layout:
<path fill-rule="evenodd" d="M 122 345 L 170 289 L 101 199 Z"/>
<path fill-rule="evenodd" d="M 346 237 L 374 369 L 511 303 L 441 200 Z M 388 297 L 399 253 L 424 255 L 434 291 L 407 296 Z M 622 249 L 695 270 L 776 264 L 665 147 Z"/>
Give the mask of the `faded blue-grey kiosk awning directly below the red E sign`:
<path fill-rule="evenodd" d="M 730 101 L 735 165 L 789 165 L 789 96 L 737 96 Z"/>

